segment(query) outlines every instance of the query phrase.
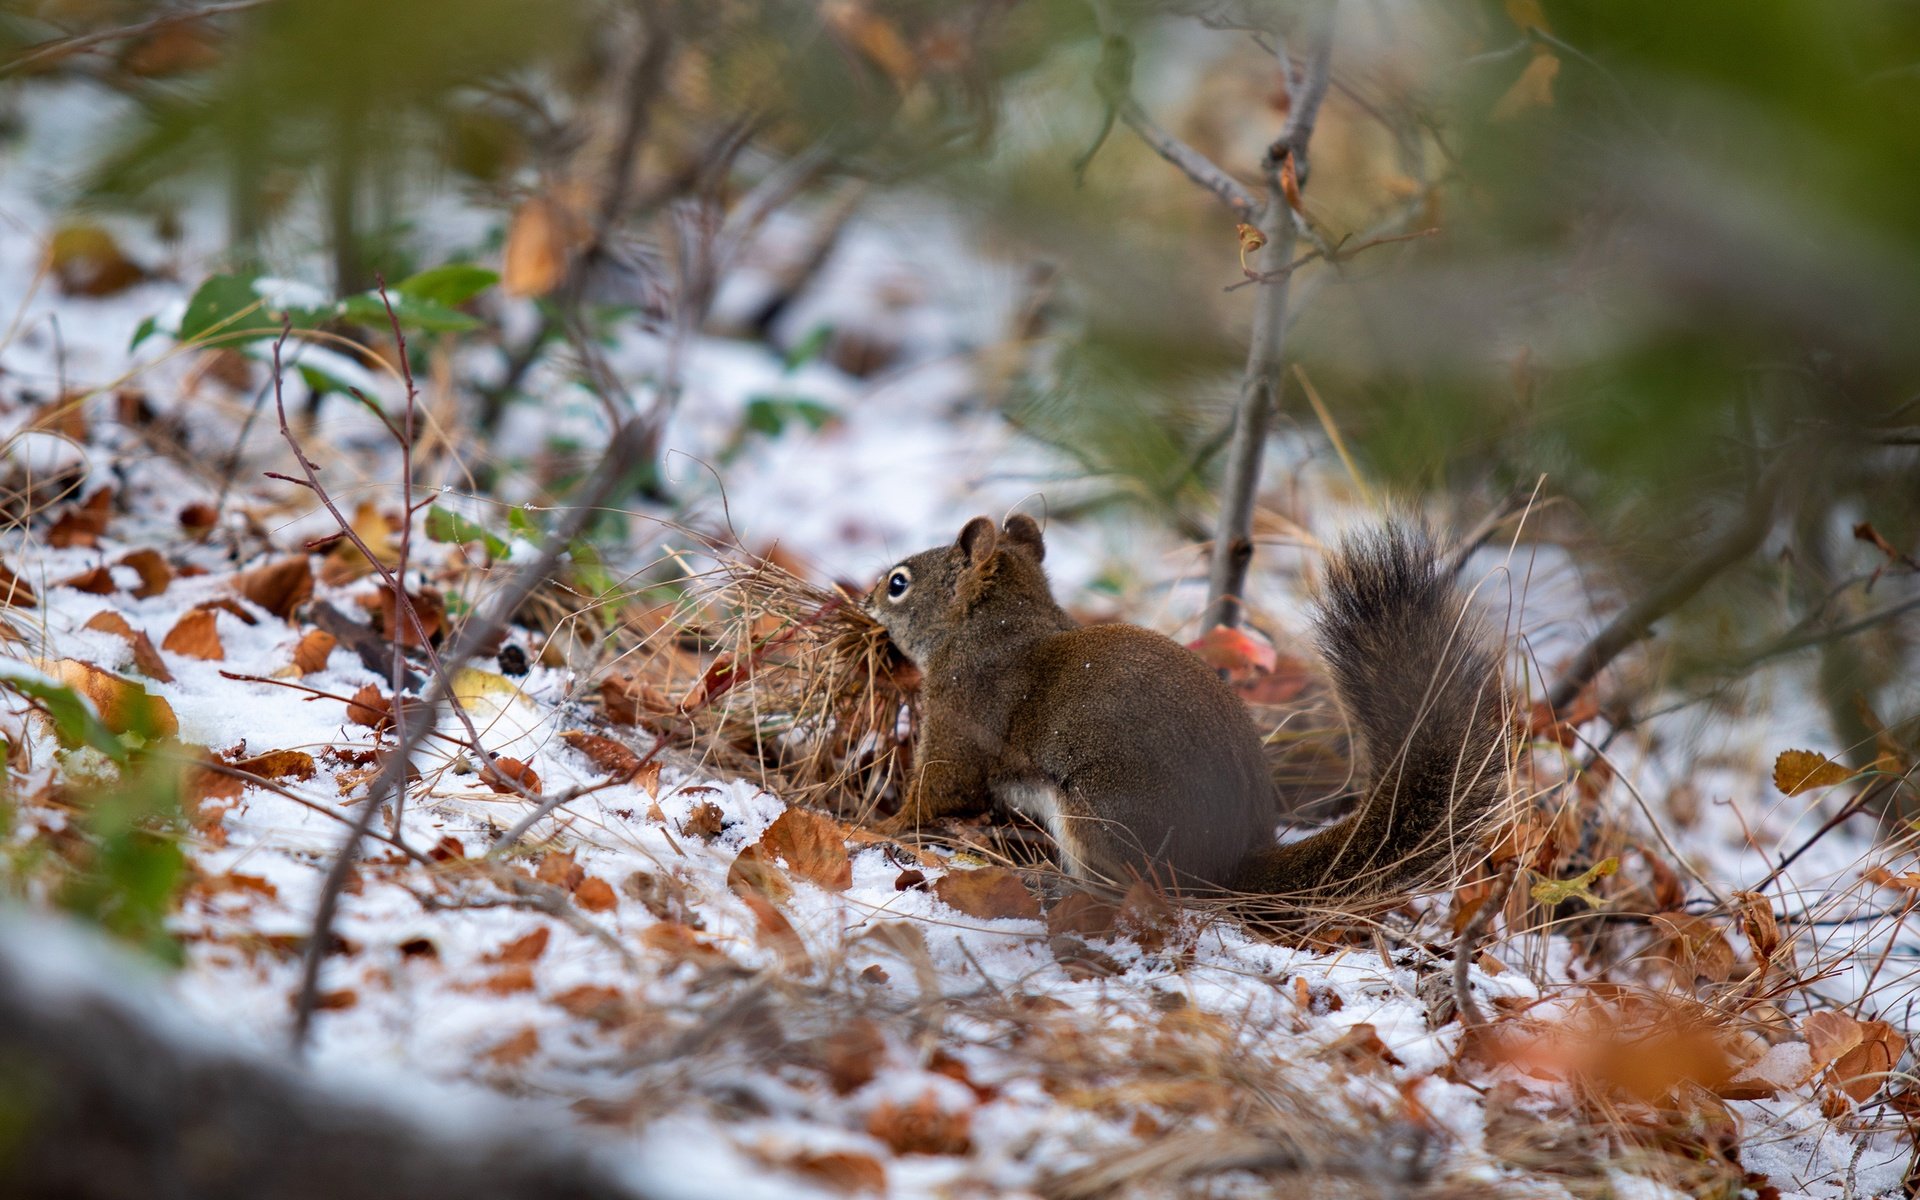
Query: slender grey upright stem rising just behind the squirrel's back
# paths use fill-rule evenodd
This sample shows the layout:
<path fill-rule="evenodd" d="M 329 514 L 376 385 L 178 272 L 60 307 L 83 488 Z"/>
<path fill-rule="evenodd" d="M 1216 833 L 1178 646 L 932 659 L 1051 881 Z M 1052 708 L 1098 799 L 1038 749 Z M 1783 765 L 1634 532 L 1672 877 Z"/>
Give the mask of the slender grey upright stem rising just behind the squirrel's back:
<path fill-rule="evenodd" d="M 1260 215 L 1260 230 L 1267 238 L 1267 261 L 1286 265 L 1294 253 L 1294 209 L 1288 204 L 1284 173 L 1294 175 L 1296 190 L 1306 182 L 1306 146 L 1313 136 L 1313 119 L 1327 96 L 1332 65 L 1334 6 L 1315 10 L 1308 21 L 1308 69 L 1288 88 L 1290 108 L 1281 136 L 1267 152 L 1267 204 Z M 1260 459 L 1267 445 L 1267 422 L 1281 399 L 1281 372 L 1286 365 L 1286 292 L 1290 276 L 1260 288 L 1254 301 L 1254 338 L 1246 353 L 1246 376 L 1235 409 L 1233 442 L 1227 445 L 1227 478 L 1221 484 L 1219 524 L 1213 532 L 1213 555 L 1208 566 L 1208 614 L 1204 626 L 1238 626 L 1246 611 L 1242 591 L 1246 570 L 1254 561 L 1254 497 L 1260 492 Z"/>

